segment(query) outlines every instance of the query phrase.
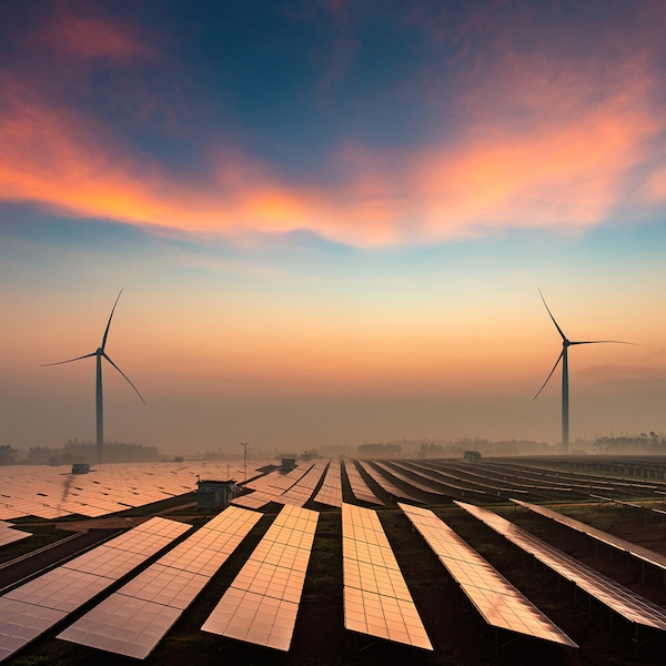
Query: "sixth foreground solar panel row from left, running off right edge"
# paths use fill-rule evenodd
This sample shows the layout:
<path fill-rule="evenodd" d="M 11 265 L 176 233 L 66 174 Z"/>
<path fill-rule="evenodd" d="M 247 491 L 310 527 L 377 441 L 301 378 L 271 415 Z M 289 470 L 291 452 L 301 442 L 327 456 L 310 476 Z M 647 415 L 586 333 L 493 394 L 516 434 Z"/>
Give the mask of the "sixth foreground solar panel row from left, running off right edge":
<path fill-rule="evenodd" d="M 656 604 L 634 594 L 630 589 L 569 557 L 492 511 L 463 502 L 456 504 L 625 619 L 636 625 L 666 630 L 666 612 Z"/>

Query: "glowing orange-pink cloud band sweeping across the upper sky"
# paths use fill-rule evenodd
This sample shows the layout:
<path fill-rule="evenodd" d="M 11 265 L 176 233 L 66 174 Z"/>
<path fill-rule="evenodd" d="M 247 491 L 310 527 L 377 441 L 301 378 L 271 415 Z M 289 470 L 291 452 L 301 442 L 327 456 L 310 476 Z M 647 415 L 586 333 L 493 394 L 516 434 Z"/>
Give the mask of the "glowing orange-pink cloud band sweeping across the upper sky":
<path fill-rule="evenodd" d="M 60 12 L 33 39 L 81 69 L 155 57 L 138 29 L 108 18 Z M 484 64 L 481 84 L 458 90 L 453 139 L 433 122 L 425 147 L 339 145 L 321 154 L 322 173 L 334 178 L 307 184 L 223 135 L 190 174 L 52 90 L 40 92 L 46 72 L 26 82 L 6 71 L 0 198 L 155 229 L 228 236 L 309 230 L 359 246 L 516 228 L 577 232 L 627 200 L 664 199 L 664 167 L 648 148 L 665 129 L 648 59 L 605 63 L 604 74 L 614 74 L 602 84 L 596 58 L 584 67 L 529 59 L 511 43 L 506 53 L 501 67 Z M 640 170 L 647 175 L 636 183 Z"/>

